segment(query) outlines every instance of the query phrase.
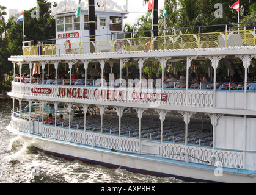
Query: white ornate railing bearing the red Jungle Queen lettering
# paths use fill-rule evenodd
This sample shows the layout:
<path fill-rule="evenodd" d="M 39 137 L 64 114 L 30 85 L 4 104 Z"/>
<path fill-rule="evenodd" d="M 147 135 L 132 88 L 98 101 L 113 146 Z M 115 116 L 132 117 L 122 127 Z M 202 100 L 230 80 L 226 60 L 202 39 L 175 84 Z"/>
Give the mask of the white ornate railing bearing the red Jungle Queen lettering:
<path fill-rule="evenodd" d="M 35 93 L 33 90 L 50 93 Z M 188 107 L 213 107 L 213 91 L 210 90 L 161 90 L 150 88 L 106 88 L 69 85 L 38 85 L 12 82 L 12 93 L 32 97 L 65 98 L 74 100 L 127 102 L 135 104 L 174 105 Z"/>

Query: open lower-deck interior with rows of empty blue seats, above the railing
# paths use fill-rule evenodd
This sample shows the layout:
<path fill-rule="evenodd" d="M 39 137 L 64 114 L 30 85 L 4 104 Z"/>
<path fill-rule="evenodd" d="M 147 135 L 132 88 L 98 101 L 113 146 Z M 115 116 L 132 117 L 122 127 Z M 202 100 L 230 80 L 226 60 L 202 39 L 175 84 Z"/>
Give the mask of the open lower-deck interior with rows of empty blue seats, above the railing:
<path fill-rule="evenodd" d="M 59 117 L 59 114 L 57 115 Z M 21 119 L 29 121 L 29 113 L 20 116 Z M 46 121 L 48 114 L 43 116 Z M 185 143 L 185 123 L 183 117 L 178 113 L 167 114 L 167 119 L 163 123 L 163 141 L 172 143 Z M 31 121 L 42 121 L 42 113 L 32 112 Z M 86 121 L 86 125 L 85 122 Z M 121 128 L 119 132 L 119 116 L 114 108 L 106 109 L 103 115 L 102 133 L 110 135 L 121 135 L 126 137 L 139 137 L 139 119 L 136 110 L 126 108 L 121 118 Z M 50 122 L 50 126 L 55 126 L 55 121 Z M 89 108 L 84 119 L 84 115 L 74 116 L 69 121 L 68 117 L 64 121 L 56 121 L 57 127 L 67 129 L 87 130 L 91 132 L 101 132 L 101 116 L 95 108 Z M 207 117 L 195 116 L 191 119 L 188 129 L 188 144 L 199 146 L 212 146 L 213 128 L 211 120 Z M 141 138 L 148 140 L 161 139 L 161 121 L 156 112 L 145 112 L 141 121 Z"/>

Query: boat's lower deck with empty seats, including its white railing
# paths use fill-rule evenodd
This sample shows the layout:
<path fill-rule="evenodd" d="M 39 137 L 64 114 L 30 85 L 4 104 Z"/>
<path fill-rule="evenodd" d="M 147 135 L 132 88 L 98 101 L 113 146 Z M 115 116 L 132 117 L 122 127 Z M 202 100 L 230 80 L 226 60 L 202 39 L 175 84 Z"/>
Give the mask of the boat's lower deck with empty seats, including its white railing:
<path fill-rule="evenodd" d="M 154 110 L 145 111 L 139 118 L 139 110 L 126 108 L 119 117 L 115 109 L 118 110 L 108 107 L 102 113 L 97 107 L 88 107 L 87 115 L 64 114 L 64 121 L 51 124 L 43 123 L 47 112 L 31 112 L 30 118 L 29 113 L 13 112 L 11 125 L 15 131 L 54 143 L 246 170 L 243 150 L 214 148 L 214 129 L 209 116 L 193 115 L 186 126 L 178 112 L 169 112 L 160 121 L 159 113 Z M 59 113 L 55 116 L 59 118 Z"/>

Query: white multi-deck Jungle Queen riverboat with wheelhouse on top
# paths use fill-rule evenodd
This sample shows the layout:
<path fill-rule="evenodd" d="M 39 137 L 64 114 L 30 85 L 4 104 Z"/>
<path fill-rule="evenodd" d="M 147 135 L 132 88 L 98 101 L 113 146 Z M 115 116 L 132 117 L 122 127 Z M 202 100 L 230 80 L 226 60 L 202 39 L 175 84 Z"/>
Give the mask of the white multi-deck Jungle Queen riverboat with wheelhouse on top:
<path fill-rule="evenodd" d="M 174 30 L 166 36 L 125 38 L 126 5 L 104 2 L 95 1 L 93 23 L 103 37 L 89 39 L 87 1 L 81 2 L 79 19 L 76 2 L 62 1 L 53 7 L 54 43 L 28 44 L 23 55 L 9 58 L 14 75 L 18 68 L 9 93 L 10 132 L 48 154 L 109 168 L 208 182 L 255 182 L 256 93 L 247 79 L 256 57 L 255 29 Z M 185 67 L 185 79 L 167 82 L 164 75 L 177 73 L 178 63 Z M 218 67 L 224 65 L 233 77 L 235 70 L 240 73 L 238 63 L 242 82 L 234 89 L 231 80 L 218 80 Z M 212 79 L 205 89 L 191 80 L 195 64 L 209 70 Z M 161 77 L 144 79 L 145 69 L 153 65 Z M 25 66 L 29 75 L 37 68 L 42 76 L 23 77 Z M 58 77 L 63 70 L 68 70 L 65 79 Z M 128 78 L 130 71 L 134 77 Z M 54 79 L 47 83 L 51 72 Z M 76 82 L 78 74 L 81 82 Z M 101 77 L 92 80 L 92 74 Z M 49 113 L 54 121 L 45 124 Z"/>

